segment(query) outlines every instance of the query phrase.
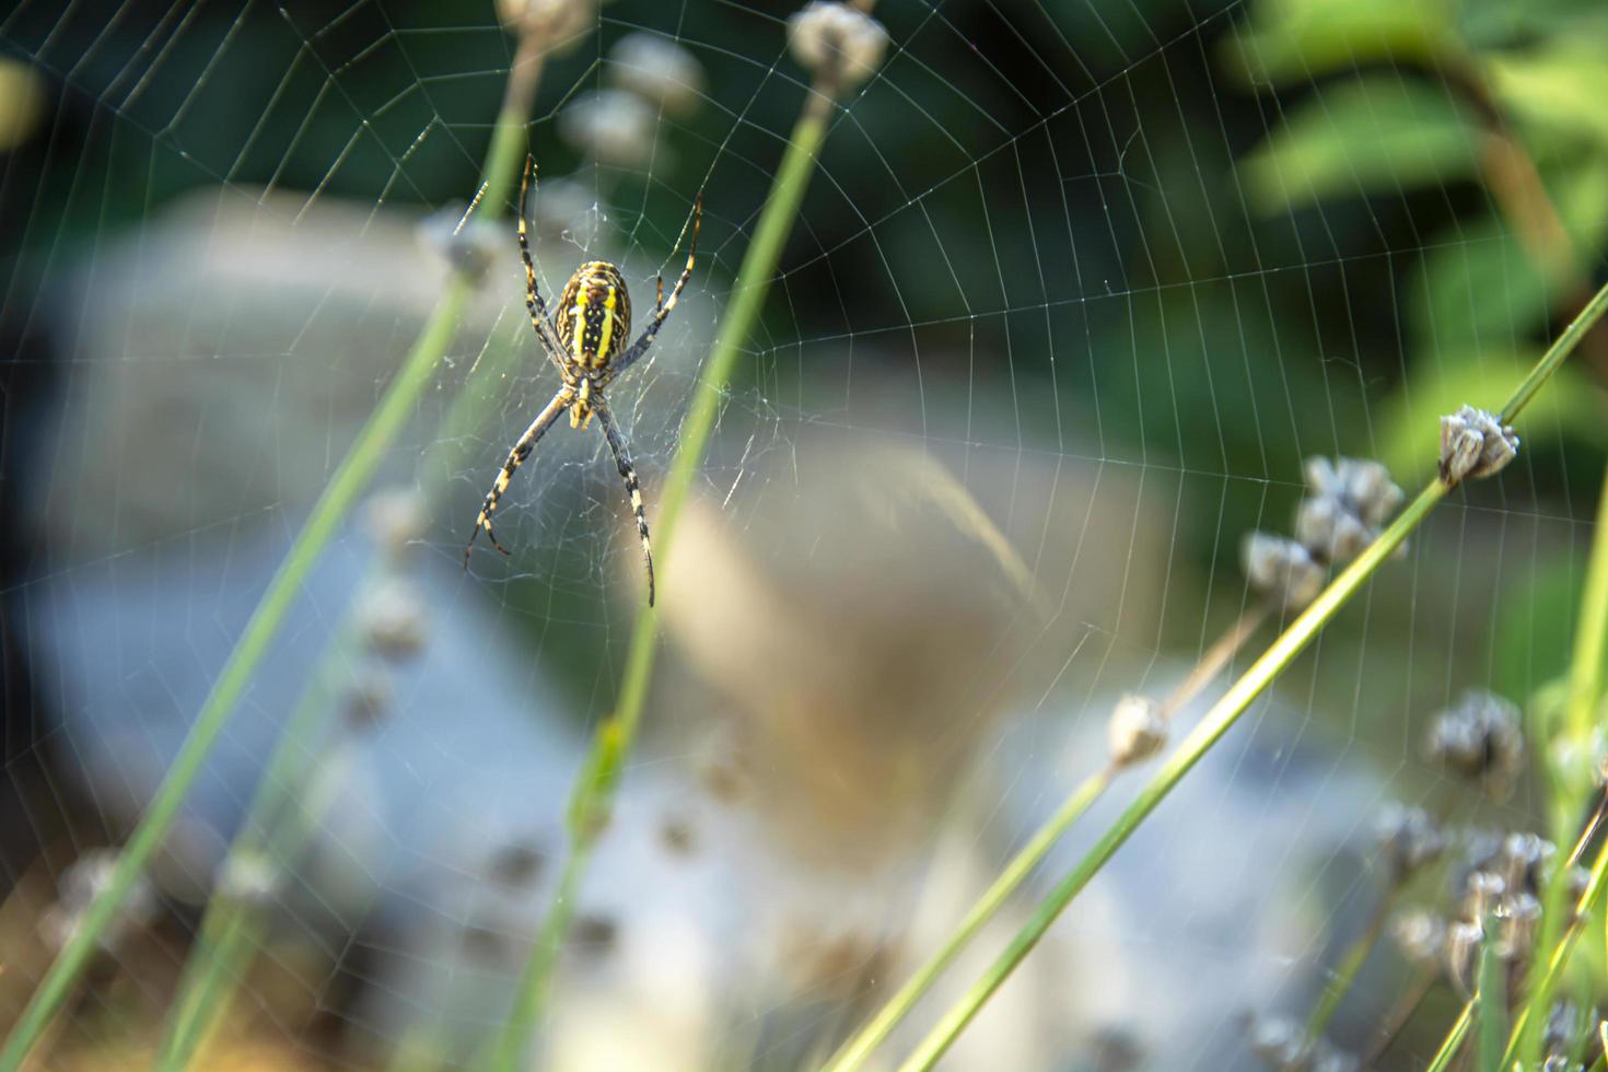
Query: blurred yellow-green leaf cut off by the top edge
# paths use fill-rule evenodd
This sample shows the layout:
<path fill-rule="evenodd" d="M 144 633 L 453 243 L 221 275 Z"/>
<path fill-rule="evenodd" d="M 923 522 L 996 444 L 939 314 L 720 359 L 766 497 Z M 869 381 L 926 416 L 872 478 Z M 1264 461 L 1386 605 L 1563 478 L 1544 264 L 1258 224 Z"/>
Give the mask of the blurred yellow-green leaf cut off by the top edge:
<path fill-rule="evenodd" d="M 1274 85 L 1372 61 L 1433 64 L 1458 51 L 1450 0 L 1262 0 L 1219 59 L 1253 85 Z"/>

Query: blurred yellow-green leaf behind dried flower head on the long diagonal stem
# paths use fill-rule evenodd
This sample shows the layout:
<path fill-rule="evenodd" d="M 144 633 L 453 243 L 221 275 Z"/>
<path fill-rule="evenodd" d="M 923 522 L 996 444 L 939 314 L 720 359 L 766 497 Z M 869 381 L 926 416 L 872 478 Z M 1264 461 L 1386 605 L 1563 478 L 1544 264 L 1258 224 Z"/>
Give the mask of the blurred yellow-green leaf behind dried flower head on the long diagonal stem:
<path fill-rule="evenodd" d="M 1458 360 L 1420 362 L 1409 381 L 1380 407 L 1380 461 L 1389 468 L 1397 484 L 1410 487 L 1428 479 L 1441 458 L 1441 416 L 1465 402 L 1486 408 L 1500 405 L 1513 381 L 1532 362 L 1534 355 L 1489 352 Z M 1528 434 L 1526 429 L 1558 429 L 1581 442 L 1608 447 L 1605 407 L 1608 397 L 1590 378 L 1579 366 L 1565 365 L 1552 386 L 1537 394 L 1524 410 L 1518 424 L 1520 440 Z"/>

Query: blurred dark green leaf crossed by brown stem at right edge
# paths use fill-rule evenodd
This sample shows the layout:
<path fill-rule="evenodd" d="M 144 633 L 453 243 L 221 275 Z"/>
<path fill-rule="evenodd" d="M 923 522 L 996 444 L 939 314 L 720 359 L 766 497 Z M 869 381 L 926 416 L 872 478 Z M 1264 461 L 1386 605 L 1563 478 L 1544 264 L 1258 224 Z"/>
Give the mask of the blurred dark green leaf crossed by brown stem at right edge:
<path fill-rule="evenodd" d="M 1576 262 L 1590 264 L 1608 233 L 1608 156 L 1577 156 L 1544 178 Z M 1442 354 L 1512 347 L 1545 325 L 1563 284 L 1489 215 L 1434 236 L 1407 281 L 1407 323 L 1420 346 Z"/>

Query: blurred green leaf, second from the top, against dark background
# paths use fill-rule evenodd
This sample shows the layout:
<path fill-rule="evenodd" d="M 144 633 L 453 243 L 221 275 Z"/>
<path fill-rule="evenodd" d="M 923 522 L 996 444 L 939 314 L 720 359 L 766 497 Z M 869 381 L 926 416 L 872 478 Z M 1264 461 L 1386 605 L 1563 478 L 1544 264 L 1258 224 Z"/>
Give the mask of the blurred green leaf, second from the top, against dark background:
<path fill-rule="evenodd" d="M 1254 211 L 1473 175 L 1479 130 L 1441 85 L 1365 77 L 1312 96 L 1240 162 Z"/>

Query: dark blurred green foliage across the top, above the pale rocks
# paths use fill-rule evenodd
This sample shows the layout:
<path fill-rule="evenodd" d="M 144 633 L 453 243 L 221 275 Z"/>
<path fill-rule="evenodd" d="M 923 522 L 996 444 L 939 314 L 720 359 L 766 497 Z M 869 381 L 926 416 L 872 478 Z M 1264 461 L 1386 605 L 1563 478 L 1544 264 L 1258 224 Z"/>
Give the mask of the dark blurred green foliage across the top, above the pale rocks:
<path fill-rule="evenodd" d="M 804 92 L 783 31 L 796 6 L 608 3 L 544 76 L 544 175 L 580 164 L 555 119 L 606 80 L 611 45 L 679 40 L 706 69 L 704 106 L 664 119 L 651 167 L 577 174 L 648 256 L 708 183 L 699 281 L 719 296 Z M 431 207 L 473 191 L 513 48 L 489 0 L 117 10 L 6 21 L 0 48 L 55 93 L 0 188 L 10 264 L 64 264 L 217 183 Z M 894 48 L 836 121 L 735 386 L 764 403 L 727 419 L 831 413 L 1143 466 L 1187 500 L 1180 585 L 1237 588 L 1237 535 L 1288 524 L 1306 455 L 1423 473 L 1425 418 L 1492 402 L 1568 315 L 1565 275 L 1534 264 L 1491 190 L 1494 116 L 1532 159 L 1571 270 L 1602 268 L 1595 0 L 883 0 L 878 18 Z M 857 389 L 867 363 L 907 389 Z M 1537 498 L 1595 489 L 1598 389 L 1571 376 L 1526 423 Z M 960 428 L 963 407 L 1003 419 Z M 597 651 L 598 585 L 535 579 L 510 598 L 547 608 L 566 583 L 568 633 Z M 1198 616 L 1172 617 L 1193 643 Z"/>

